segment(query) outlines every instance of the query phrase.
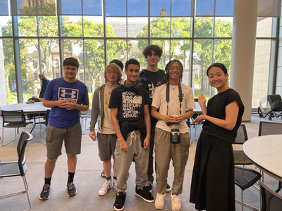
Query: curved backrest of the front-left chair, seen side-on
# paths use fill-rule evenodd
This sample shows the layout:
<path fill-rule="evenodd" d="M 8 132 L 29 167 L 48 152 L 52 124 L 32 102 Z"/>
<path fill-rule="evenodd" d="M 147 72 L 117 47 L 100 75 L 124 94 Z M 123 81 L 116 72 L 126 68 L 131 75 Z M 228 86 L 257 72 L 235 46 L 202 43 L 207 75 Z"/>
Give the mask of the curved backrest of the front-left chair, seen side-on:
<path fill-rule="evenodd" d="M 20 169 L 20 175 L 25 175 L 27 167 L 25 165 L 25 147 L 27 145 L 27 141 L 32 139 L 32 134 L 29 132 L 23 131 L 20 134 L 20 139 L 18 140 L 17 152 L 18 152 L 18 167 Z"/>

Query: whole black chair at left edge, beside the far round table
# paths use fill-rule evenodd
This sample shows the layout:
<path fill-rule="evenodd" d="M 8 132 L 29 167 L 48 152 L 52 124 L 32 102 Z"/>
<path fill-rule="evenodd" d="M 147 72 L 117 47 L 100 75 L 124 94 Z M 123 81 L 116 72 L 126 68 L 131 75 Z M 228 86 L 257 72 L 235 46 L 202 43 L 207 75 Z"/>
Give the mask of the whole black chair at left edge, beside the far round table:
<path fill-rule="evenodd" d="M 11 143 L 17 139 L 16 128 L 26 127 L 27 124 L 33 124 L 25 118 L 25 114 L 23 110 L 1 110 L 1 116 L 3 121 L 3 128 L 2 128 L 2 146 Z M 15 139 L 12 141 L 8 141 L 8 143 L 4 144 L 4 128 L 14 128 L 15 129 Z"/>

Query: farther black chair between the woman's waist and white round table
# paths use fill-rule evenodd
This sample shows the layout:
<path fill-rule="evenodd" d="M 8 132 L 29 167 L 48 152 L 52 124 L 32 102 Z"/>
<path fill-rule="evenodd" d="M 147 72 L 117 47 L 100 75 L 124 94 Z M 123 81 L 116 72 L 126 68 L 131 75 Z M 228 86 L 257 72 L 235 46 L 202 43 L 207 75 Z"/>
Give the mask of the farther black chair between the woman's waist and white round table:
<path fill-rule="evenodd" d="M 237 131 L 235 143 L 233 143 L 233 147 L 238 145 L 242 146 L 245 141 L 247 141 L 247 129 L 245 124 L 240 124 L 240 127 Z M 243 152 L 243 149 L 233 149 L 233 155 L 235 165 L 252 165 L 252 161 L 247 158 L 247 156 Z"/>

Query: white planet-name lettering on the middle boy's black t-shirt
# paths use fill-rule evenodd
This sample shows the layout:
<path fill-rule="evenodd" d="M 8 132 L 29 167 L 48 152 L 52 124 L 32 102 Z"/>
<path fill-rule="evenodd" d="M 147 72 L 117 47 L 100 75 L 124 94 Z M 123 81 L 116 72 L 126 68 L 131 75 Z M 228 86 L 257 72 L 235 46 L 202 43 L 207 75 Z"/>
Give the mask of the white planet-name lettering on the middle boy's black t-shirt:
<path fill-rule="evenodd" d="M 135 118 L 140 115 L 142 106 L 142 96 L 137 96 L 132 91 L 123 91 L 122 93 L 123 118 Z"/>

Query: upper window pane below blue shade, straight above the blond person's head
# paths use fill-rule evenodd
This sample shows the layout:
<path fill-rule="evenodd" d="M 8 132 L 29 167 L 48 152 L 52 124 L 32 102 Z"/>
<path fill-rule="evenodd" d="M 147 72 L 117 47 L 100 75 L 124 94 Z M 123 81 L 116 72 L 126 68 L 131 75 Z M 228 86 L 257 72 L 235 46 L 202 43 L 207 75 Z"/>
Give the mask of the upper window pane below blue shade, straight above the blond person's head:
<path fill-rule="evenodd" d="M 126 18 L 106 18 L 106 37 L 126 37 Z"/>

